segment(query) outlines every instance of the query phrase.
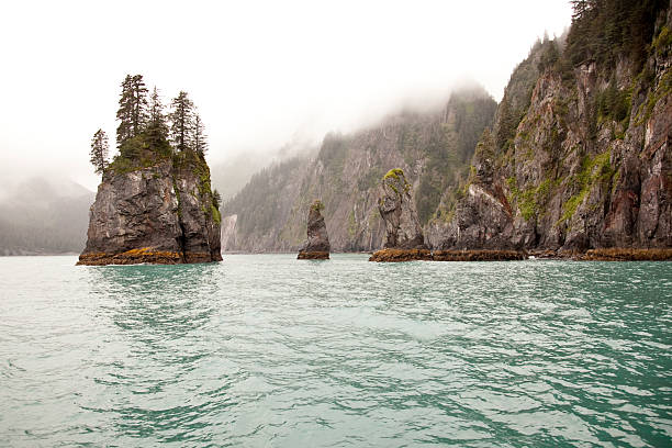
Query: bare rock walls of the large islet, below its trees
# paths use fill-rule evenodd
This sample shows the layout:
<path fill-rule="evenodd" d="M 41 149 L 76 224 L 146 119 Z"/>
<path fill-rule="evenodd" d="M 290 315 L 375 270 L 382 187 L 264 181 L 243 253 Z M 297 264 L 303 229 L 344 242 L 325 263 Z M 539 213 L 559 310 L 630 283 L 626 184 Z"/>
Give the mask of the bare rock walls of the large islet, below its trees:
<path fill-rule="evenodd" d="M 220 212 L 202 159 L 107 171 L 80 265 L 222 260 Z"/>

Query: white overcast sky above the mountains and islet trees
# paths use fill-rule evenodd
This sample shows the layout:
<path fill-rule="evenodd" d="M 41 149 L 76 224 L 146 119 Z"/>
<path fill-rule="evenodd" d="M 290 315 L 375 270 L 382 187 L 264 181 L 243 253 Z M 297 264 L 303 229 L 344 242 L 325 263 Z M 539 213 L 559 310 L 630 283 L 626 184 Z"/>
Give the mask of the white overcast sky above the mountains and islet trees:
<path fill-rule="evenodd" d="M 567 0 L 11 1 L 0 15 L 0 176 L 59 169 L 90 189 L 92 134 L 114 147 L 120 83 L 186 90 L 212 161 L 348 132 L 473 79 L 500 100 Z M 0 182 L 1 183 L 1 182 Z"/>

